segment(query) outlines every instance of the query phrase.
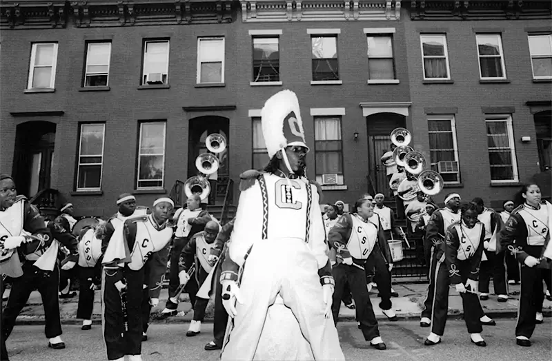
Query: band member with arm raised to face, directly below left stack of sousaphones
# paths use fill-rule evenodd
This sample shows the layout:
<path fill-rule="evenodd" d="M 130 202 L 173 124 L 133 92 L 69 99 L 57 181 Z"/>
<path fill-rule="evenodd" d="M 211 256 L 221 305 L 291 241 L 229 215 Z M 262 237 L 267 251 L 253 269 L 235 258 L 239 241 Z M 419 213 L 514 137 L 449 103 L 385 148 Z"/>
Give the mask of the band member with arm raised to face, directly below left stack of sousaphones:
<path fill-rule="evenodd" d="M 175 298 L 177 288 L 180 285 L 179 278 L 179 258 L 188 240 L 193 237 L 199 231 L 203 231 L 205 225 L 212 220 L 210 214 L 201 209 L 201 197 L 194 194 L 188 200 L 186 200 L 186 208 L 180 208 L 175 212 L 172 219 L 177 220 L 177 229 L 175 231 L 175 239 L 172 241 L 172 249 L 170 250 L 170 267 L 169 267 L 169 284 L 168 284 L 168 300 L 165 308 L 157 319 L 162 320 L 169 316 L 176 316 L 178 302 Z M 190 295 L 190 302 L 195 305 L 195 292 L 190 290 L 189 287 L 193 287 L 192 284 L 186 285 L 186 292 Z"/>

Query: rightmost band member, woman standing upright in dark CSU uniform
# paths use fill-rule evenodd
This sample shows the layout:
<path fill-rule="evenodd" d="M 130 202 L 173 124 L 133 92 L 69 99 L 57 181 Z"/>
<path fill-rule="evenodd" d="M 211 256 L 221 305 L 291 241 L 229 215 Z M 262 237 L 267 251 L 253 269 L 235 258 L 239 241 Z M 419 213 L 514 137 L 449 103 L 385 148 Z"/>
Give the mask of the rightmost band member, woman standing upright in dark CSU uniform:
<path fill-rule="evenodd" d="M 517 311 L 515 342 L 520 346 L 531 346 L 531 336 L 537 323 L 538 308 L 542 305 L 542 280 L 550 274 L 552 254 L 550 249 L 550 227 L 552 205 L 541 203 L 538 185 L 529 183 L 520 191 L 524 204 L 513 210 L 500 233 L 502 249 L 515 254 L 521 265 L 520 306 Z"/>

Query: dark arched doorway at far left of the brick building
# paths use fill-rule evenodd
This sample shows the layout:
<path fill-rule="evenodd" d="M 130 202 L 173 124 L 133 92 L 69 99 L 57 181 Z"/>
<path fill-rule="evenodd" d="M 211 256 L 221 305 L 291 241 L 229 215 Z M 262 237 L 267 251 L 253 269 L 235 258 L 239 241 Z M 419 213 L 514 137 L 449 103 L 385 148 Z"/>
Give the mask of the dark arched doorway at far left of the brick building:
<path fill-rule="evenodd" d="M 13 165 L 17 193 L 32 198 L 41 189 L 50 188 L 55 137 L 55 123 L 32 121 L 17 125 Z"/>

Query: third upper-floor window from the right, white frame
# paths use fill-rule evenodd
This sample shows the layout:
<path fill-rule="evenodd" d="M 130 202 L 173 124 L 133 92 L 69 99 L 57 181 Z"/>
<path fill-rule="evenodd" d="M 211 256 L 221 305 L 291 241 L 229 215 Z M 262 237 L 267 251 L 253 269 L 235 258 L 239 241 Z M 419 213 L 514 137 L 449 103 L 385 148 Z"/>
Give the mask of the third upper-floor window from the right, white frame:
<path fill-rule="evenodd" d="M 445 34 L 421 34 L 424 80 L 451 79 Z"/>

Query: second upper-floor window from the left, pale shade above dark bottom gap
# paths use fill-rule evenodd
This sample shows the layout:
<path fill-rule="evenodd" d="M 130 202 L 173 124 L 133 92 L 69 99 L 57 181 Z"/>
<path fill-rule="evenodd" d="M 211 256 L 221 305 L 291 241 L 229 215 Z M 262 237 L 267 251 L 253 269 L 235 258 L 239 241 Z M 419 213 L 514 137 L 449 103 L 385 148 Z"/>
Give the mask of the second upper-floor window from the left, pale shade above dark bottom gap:
<path fill-rule="evenodd" d="M 86 48 L 85 87 L 108 85 L 111 43 L 88 43 Z"/>

